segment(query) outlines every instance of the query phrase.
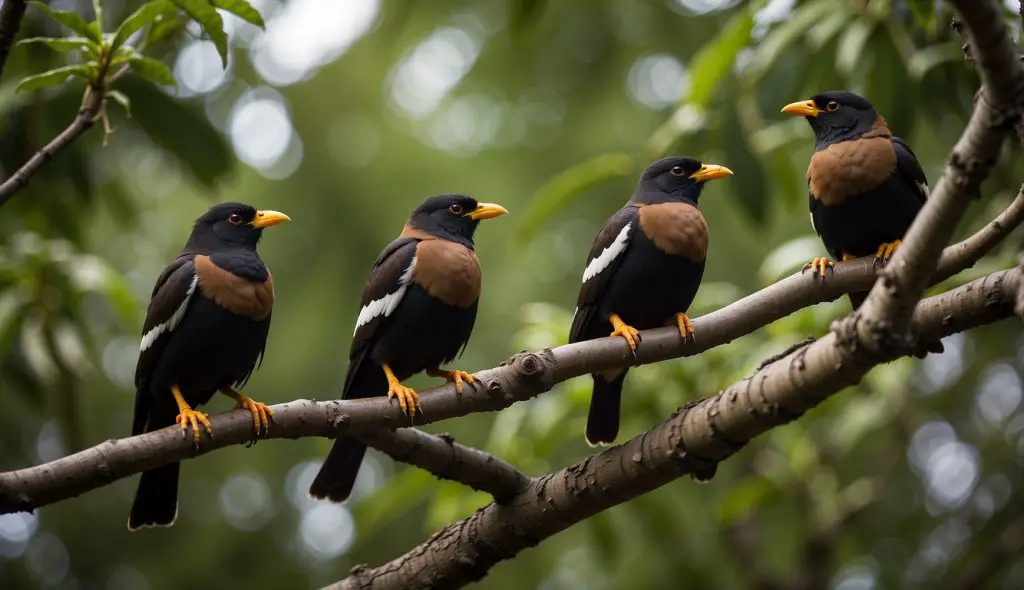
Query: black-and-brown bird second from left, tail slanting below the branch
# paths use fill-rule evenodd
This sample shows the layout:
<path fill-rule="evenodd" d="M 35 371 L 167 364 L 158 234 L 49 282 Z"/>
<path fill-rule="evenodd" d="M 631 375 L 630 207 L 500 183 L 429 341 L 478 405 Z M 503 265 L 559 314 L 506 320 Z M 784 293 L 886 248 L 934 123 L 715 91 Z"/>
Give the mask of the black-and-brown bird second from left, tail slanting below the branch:
<path fill-rule="evenodd" d="M 454 381 L 460 393 L 463 382 L 475 380 L 440 366 L 460 354 L 476 321 L 481 271 L 473 233 L 481 219 L 505 213 L 500 205 L 463 195 L 431 197 L 413 211 L 377 257 L 362 291 L 342 399 L 387 394 L 412 417 L 419 395 L 402 380 L 426 371 Z M 309 495 L 346 500 L 366 451 L 355 438 L 338 438 Z"/>

